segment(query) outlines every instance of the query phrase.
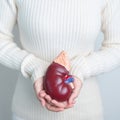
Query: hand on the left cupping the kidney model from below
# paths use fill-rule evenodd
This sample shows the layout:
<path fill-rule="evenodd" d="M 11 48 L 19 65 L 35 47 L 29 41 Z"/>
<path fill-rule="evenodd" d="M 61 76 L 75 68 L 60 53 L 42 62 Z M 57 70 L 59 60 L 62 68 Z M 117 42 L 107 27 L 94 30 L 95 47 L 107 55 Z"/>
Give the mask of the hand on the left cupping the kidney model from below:
<path fill-rule="evenodd" d="M 43 89 L 43 78 L 39 78 L 38 80 L 35 81 L 34 90 L 38 100 L 41 102 L 43 107 L 46 107 L 48 110 L 54 112 L 64 110 L 66 104 L 52 100 L 52 98 Z"/>

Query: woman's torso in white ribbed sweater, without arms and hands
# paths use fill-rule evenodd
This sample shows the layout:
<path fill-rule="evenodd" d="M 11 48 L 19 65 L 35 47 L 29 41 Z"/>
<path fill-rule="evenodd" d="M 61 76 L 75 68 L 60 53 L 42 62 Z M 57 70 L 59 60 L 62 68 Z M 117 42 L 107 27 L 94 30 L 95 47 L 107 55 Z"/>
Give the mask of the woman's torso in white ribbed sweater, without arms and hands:
<path fill-rule="evenodd" d="M 22 47 L 52 61 L 62 50 L 72 59 L 94 51 L 101 29 L 102 0 L 16 0 Z M 102 120 L 102 104 L 95 78 L 85 80 L 76 106 L 53 113 L 42 108 L 32 82 L 21 74 L 12 110 L 25 120 Z"/>

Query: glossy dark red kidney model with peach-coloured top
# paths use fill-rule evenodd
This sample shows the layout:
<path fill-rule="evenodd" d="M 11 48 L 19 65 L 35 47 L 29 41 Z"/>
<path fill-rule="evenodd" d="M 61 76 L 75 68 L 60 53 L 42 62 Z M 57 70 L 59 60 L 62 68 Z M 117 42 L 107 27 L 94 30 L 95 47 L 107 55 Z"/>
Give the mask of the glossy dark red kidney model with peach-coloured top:
<path fill-rule="evenodd" d="M 47 94 L 57 101 L 66 101 L 72 93 L 70 85 L 73 82 L 72 75 L 69 75 L 70 64 L 66 53 L 62 51 L 48 67 L 44 76 L 43 86 Z"/>

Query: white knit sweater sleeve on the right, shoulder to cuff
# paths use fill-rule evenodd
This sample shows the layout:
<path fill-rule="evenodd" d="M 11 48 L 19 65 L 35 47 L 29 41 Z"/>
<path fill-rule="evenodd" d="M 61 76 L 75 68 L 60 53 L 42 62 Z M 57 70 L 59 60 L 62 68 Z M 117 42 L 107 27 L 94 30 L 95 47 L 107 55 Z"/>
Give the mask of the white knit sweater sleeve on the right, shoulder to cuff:
<path fill-rule="evenodd" d="M 98 51 L 71 61 L 71 74 L 84 80 L 120 65 L 120 0 L 107 0 L 101 14 L 104 40 Z"/>

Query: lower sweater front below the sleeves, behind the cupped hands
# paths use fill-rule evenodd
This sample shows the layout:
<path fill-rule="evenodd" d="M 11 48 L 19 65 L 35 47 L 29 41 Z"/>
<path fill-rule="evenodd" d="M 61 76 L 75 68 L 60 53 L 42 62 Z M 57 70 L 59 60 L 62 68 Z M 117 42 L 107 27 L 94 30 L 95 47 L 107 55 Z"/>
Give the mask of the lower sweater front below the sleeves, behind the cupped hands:
<path fill-rule="evenodd" d="M 41 106 L 31 81 L 19 74 L 12 111 L 23 120 L 103 120 L 101 96 L 95 77 L 85 80 L 73 108 L 56 113 Z"/>

